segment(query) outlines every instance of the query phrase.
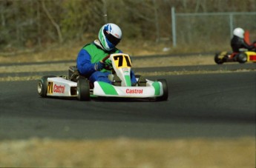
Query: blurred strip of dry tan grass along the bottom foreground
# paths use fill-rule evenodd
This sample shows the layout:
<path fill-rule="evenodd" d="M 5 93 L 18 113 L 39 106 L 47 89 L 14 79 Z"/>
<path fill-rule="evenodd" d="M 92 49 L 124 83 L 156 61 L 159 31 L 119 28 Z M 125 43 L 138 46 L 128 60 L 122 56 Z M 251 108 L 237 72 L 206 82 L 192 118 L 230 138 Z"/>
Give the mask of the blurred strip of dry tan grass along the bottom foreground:
<path fill-rule="evenodd" d="M 1 141 L 0 167 L 255 167 L 255 138 Z"/>

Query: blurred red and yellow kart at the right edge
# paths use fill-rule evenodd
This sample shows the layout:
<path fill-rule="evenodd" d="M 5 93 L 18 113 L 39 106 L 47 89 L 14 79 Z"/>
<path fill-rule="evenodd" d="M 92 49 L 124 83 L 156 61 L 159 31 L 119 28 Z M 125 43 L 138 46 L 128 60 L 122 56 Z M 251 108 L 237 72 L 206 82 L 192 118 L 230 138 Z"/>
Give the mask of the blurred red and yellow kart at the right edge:
<path fill-rule="evenodd" d="M 246 31 L 244 34 L 244 40 L 246 43 L 250 44 L 249 41 L 249 31 Z M 256 44 L 255 48 L 256 48 Z M 256 50 L 246 50 L 242 49 L 239 53 L 232 53 L 228 51 L 222 51 L 215 53 L 214 61 L 216 64 L 223 64 L 224 62 L 234 62 L 237 61 L 240 64 L 248 62 L 256 63 Z"/>

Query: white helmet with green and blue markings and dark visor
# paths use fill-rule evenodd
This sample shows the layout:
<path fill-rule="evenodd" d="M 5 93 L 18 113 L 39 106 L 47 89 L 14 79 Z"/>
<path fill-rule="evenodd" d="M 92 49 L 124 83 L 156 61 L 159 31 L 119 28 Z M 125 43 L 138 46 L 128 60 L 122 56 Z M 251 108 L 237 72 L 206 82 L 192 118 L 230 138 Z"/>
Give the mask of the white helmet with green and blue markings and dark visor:
<path fill-rule="evenodd" d="M 122 30 L 116 24 L 105 24 L 99 30 L 99 41 L 105 50 L 112 50 L 122 38 Z"/>

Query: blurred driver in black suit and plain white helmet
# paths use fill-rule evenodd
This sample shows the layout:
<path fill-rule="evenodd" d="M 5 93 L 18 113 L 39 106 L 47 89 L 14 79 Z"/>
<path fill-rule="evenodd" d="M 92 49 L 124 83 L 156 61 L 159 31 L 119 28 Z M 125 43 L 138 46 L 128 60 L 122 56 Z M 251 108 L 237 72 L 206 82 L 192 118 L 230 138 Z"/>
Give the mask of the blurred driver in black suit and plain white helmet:
<path fill-rule="evenodd" d="M 239 53 L 242 50 L 255 50 L 255 42 L 253 44 L 247 44 L 244 40 L 244 30 L 237 27 L 233 31 L 233 38 L 231 40 L 231 47 L 234 53 Z"/>

